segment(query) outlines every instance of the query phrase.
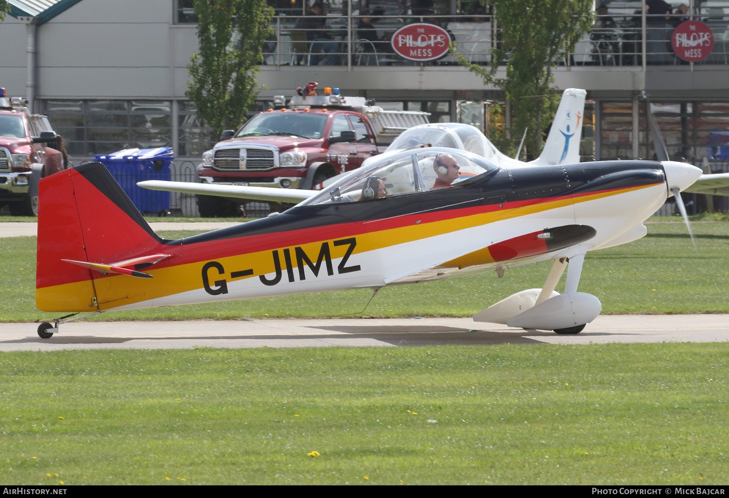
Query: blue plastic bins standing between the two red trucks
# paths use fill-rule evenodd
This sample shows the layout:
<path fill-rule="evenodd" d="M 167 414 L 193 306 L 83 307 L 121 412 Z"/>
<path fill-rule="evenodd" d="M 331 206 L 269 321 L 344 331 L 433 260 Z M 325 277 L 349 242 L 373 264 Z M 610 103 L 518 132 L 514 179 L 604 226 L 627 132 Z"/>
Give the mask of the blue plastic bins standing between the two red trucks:
<path fill-rule="evenodd" d="M 93 159 L 109 169 L 141 212 L 165 213 L 170 208 L 169 192 L 142 189 L 136 183 L 145 180 L 170 180 L 172 162 L 175 159 L 171 147 L 125 149 L 112 154 L 96 154 Z"/>

